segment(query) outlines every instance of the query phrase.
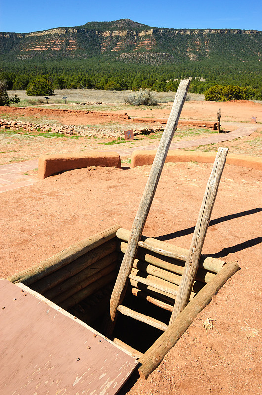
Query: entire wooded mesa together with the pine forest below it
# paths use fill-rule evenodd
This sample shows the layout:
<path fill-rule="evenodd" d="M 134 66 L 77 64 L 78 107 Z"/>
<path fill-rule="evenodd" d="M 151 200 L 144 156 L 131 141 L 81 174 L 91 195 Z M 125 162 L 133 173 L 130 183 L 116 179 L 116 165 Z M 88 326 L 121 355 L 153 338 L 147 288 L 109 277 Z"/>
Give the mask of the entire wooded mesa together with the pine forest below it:
<path fill-rule="evenodd" d="M 54 88 L 191 91 L 214 84 L 262 89 L 262 32 L 153 28 L 129 19 L 33 33 L 0 33 L 1 79 L 25 89 L 37 75 Z M 203 80 L 205 79 L 205 81 Z"/>

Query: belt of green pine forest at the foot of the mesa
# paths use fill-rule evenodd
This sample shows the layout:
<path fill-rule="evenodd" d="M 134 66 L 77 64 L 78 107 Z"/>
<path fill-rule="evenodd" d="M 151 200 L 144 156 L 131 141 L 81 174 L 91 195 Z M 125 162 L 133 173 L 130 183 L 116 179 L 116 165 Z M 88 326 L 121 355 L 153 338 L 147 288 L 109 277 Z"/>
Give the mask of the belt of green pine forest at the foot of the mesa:
<path fill-rule="evenodd" d="M 176 91 L 181 79 L 191 77 L 190 91 L 204 93 L 214 85 L 250 88 L 252 98 L 262 99 L 262 73 L 259 62 L 235 62 L 230 65 L 201 61 L 160 66 L 68 60 L 7 63 L 0 69 L 0 80 L 8 90 L 26 90 L 32 81 L 47 79 L 53 89 L 104 89 Z M 203 81 L 203 79 L 205 79 Z M 252 90 L 253 89 L 253 90 Z"/>

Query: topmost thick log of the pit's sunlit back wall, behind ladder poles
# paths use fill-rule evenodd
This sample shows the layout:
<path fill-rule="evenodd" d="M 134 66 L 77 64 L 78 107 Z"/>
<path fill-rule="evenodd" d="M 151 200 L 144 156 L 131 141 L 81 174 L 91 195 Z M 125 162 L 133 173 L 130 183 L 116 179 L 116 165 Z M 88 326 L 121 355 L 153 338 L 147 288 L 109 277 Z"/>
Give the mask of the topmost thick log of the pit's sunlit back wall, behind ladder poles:
<path fill-rule="evenodd" d="M 130 236 L 130 231 L 123 229 L 123 228 L 120 228 L 117 230 L 117 238 L 119 238 L 120 240 L 127 242 L 129 239 L 129 236 Z M 181 263 L 186 261 L 189 250 L 187 250 L 185 248 L 177 247 L 173 244 L 169 244 L 164 241 L 156 240 L 155 238 L 146 237 L 146 236 L 142 236 L 141 238 L 143 241 L 146 241 L 147 245 L 150 244 L 151 246 L 154 246 L 155 248 L 159 248 L 160 250 L 163 250 L 165 252 L 168 251 L 171 254 L 174 253 L 175 254 L 174 256 L 180 255 L 180 257 L 181 257 L 181 259 L 179 259 L 181 261 L 180 265 L 181 265 Z M 121 248 L 122 248 L 122 243 L 121 243 Z M 141 253 L 141 251 L 145 251 L 145 250 L 140 250 L 138 248 L 138 251 L 139 251 L 139 253 Z M 152 255 L 152 254 L 150 254 L 150 255 Z M 137 256 L 137 258 L 138 258 L 138 256 Z M 140 258 L 140 259 L 143 259 L 143 258 Z M 166 258 L 165 258 L 165 260 L 166 260 Z M 172 261 L 170 261 L 170 262 L 172 262 Z M 152 262 L 150 262 L 150 263 L 152 263 Z M 174 260 L 174 263 L 175 263 L 175 260 Z M 206 255 L 201 255 L 200 262 L 199 262 L 199 266 L 201 268 L 204 268 L 207 271 L 214 272 L 214 273 L 218 273 L 222 269 L 224 264 L 225 264 L 224 261 L 220 261 L 219 259 L 212 258 L 209 256 L 207 257 Z M 178 265 L 178 262 L 176 263 L 176 265 Z"/>

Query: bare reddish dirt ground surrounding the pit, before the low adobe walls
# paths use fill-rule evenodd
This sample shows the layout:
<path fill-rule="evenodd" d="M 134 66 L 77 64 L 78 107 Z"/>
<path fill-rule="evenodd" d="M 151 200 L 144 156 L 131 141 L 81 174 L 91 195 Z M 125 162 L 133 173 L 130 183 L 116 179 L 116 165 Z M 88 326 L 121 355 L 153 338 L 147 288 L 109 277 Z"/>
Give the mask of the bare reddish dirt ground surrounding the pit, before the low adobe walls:
<path fill-rule="evenodd" d="M 189 248 L 210 164 L 166 164 L 144 234 Z M 113 224 L 131 229 L 150 166 L 68 171 L 0 195 L 0 275 L 7 277 Z M 203 253 L 241 270 L 150 377 L 129 395 L 261 394 L 262 173 L 226 165 Z M 214 319 L 207 334 L 202 325 Z M 257 335 L 257 334 L 258 335 Z M 144 336 L 145 334 L 141 334 Z M 137 381 L 136 381 L 137 380 Z"/>

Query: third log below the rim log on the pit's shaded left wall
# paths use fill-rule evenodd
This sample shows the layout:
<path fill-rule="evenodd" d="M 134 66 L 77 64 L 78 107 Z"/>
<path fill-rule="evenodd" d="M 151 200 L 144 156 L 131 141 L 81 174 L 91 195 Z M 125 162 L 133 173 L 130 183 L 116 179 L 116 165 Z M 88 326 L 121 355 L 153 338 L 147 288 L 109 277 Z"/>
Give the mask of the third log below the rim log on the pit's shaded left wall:
<path fill-rule="evenodd" d="M 84 279 L 83 281 L 77 283 L 76 285 L 72 286 L 71 288 L 67 289 L 63 293 L 57 295 L 55 298 L 52 298 L 52 301 L 57 305 L 60 305 L 63 301 L 68 299 L 70 296 L 76 294 L 77 292 L 81 291 L 84 288 L 87 288 L 88 285 L 96 282 L 100 278 L 107 276 L 116 268 L 116 262 L 107 265 L 104 269 L 100 270 L 99 272 L 93 274 L 92 276 Z"/>

